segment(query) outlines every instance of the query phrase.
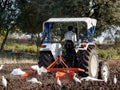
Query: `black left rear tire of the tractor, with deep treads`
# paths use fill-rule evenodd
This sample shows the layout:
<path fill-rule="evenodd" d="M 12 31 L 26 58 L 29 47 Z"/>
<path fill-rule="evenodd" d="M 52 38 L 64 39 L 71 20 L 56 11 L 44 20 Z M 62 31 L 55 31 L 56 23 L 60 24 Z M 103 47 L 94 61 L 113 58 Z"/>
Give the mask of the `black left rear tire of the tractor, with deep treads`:
<path fill-rule="evenodd" d="M 39 61 L 38 61 L 39 67 L 44 66 L 45 68 L 47 68 L 53 61 L 54 58 L 51 52 L 48 51 L 40 52 Z"/>

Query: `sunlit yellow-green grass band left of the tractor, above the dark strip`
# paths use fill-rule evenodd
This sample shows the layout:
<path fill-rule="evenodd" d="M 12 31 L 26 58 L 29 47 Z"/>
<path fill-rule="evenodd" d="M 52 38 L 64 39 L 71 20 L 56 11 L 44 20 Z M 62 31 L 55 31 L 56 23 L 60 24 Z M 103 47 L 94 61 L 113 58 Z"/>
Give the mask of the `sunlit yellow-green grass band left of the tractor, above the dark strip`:
<path fill-rule="evenodd" d="M 2 44 L 4 37 L 0 37 L 0 45 Z M 12 52 L 26 52 L 37 53 L 37 46 L 34 41 L 29 39 L 10 39 L 8 38 L 5 46 L 5 50 L 11 50 Z"/>

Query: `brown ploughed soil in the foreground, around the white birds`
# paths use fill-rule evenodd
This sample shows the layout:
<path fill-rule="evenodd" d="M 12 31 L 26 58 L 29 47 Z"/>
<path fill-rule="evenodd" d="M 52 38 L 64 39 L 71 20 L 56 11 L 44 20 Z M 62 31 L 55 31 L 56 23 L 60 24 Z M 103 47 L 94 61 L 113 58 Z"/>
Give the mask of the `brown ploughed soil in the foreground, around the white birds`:
<path fill-rule="evenodd" d="M 110 68 L 110 77 L 107 83 L 104 81 L 81 81 L 81 83 L 63 80 L 62 85 L 59 86 L 54 82 L 54 73 L 43 73 L 42 75 L 34 75 L 32 71 L 27 70 L 34 64 L 5 64 L 3 69 L 0 70 L 0 90 L 120 90 L 120 60 L 107 61 Z M 30 74 L 29 77 L 22 79 L 20 76 L 14 76 L 10 73 L 15 68 L 21 68 Z M 117 83 L 114 84 L 114 75 L 117 77 Z M 3 87 L 1 83 L 2 76 L 8 81 L 7 87 Z M 32 77 L 37 78 L 42 82 L 41 84 L 31 84 L 27 80 Z M 81 77 L 79 77 L 80 79 Z"/>

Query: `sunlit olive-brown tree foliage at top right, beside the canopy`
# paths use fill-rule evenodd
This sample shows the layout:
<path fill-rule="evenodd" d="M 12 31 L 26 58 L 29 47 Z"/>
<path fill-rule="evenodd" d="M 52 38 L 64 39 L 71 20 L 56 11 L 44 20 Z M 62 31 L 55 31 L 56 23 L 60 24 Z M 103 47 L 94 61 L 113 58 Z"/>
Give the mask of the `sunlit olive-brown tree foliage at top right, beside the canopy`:
<path fill-rule="evenodd" d="M 93 0 L 95 3 L 92 7 L 94 12 L 90 17 L 96 18 L 97 23 L 97 34 L 101 33 L 112 25 L 120 26 L 120 1 L 119 0 Z"/>

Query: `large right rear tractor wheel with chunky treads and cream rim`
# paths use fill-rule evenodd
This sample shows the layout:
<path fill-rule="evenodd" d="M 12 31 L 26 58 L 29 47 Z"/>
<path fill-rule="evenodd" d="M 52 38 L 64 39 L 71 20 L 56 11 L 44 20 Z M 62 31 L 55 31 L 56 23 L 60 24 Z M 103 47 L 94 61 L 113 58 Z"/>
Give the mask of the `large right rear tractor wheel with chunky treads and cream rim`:
<path fill-rule="evenodd" d="M 88 48 L 78 53 L 78 65 L 77 67 L 82 68 L 85 72 L 80 72 L 79 75 L 82 77 L 91 76 L 94 78 L 98 77 L 98 55 L 95 49 Z"/>

